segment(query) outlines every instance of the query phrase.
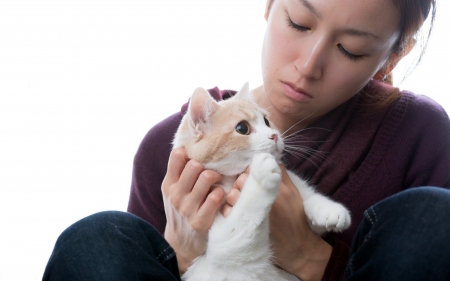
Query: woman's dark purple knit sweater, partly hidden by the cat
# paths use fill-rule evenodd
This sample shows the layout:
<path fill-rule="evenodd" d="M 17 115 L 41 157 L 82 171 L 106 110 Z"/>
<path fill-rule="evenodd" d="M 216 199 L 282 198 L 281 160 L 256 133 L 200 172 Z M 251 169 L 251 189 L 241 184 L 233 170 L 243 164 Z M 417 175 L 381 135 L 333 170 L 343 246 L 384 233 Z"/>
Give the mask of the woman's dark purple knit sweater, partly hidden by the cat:
<path fill-rule="evenodd" d="M 310 140 L 305 157 L 286 155 L 284 163 L 317 190 L 344 204 L 352 226 L 325 239 L 333 246 L 323 280 L 342 280 L 349 245 L 363 212 L 378 201 L 417 186 L 450 188 L 450 120 L 433 100 L 403 92 L 388 109 L 366 114 L 366 97 L 395 89 L 371 82 L 364 91 L 298 133 Z M 210 90 L 216 100 L 232 91 Z M 134 159 L 128 211 L 161 233 L 166 217 L 161 183 L 166 174 L 171 141 L 186 111 L 154 126 Z"/>

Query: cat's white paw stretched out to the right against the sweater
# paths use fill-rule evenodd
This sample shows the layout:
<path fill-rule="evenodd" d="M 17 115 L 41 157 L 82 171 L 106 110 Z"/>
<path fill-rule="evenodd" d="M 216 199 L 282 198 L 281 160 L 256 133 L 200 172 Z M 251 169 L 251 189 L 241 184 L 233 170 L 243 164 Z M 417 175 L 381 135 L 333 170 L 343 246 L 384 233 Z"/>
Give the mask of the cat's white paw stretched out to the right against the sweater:
<path fill-rule="evenodd" d="M 315 232 L 319 234 L 326 231 L 341 232 L 350 226 L 350 212 L 342 204 L 329 199 L 326 201 L 310 199 L 304 202 L 304 206 L 306 216 L 310 219 L 311 228 Z"/>

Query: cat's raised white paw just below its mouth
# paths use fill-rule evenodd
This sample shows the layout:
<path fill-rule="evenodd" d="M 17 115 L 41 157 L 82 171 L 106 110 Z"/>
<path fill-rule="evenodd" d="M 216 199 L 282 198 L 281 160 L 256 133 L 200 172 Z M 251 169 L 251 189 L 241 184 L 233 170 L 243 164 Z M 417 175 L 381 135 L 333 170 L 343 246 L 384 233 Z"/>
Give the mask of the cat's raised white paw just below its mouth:
<path fill-rule="evenodd" d="M 281 169 L 275 157 L 269 153 L 253 156 L 250 175 L 265 189 L 278 188 L 281 182 Z"/>

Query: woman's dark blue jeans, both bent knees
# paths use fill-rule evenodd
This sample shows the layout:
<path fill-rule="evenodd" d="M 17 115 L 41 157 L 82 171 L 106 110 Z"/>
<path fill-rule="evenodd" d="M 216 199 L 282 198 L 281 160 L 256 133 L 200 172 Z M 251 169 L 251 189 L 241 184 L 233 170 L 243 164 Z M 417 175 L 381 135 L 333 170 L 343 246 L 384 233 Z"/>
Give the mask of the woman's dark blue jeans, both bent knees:
<path fill-rule="evenodd" d="M 345 280 L 450 280 L 450 191 L 413 188 L 365 212 Z M 43 280 L 180 280 L 175 253 L 150 224 L 102 212 L 65 230 Z"/>

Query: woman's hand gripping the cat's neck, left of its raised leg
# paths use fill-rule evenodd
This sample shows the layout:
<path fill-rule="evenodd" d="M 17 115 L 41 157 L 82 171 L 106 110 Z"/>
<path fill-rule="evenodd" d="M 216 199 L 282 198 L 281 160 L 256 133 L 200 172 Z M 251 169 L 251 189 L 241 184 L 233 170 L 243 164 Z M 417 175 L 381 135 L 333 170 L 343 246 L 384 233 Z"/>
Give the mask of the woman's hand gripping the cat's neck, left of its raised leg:
<path fill-rule="evenodd" d="M 164 237 L 177 254 L 180 273 L 206 250 L 208 231 L 225 196 L 221 187 L 213 186 L 221 179 L 219 173 L 189 160 L 184 148 L 171 152 L 162 183 Z"/>

